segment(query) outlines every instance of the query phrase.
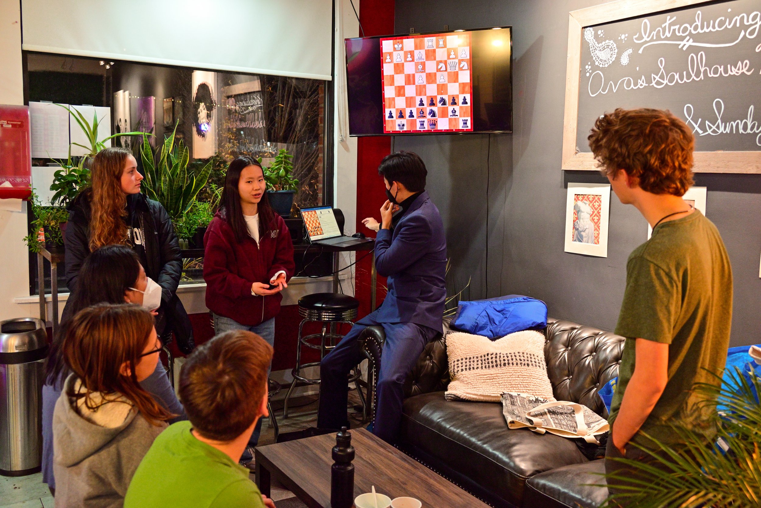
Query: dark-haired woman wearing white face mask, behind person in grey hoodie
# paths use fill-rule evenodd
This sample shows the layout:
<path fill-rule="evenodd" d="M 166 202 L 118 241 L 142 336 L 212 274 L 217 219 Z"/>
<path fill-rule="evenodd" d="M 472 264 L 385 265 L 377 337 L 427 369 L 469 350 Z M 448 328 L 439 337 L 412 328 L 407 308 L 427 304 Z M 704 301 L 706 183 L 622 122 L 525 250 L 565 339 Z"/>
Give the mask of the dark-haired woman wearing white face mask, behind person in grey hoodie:
<path fill-rule="evenodd" d="M 56 330 L 53 344 L 46 361 L 46 380 L 43 386 L 43 481 L 51 491 L 56 488 L 53 478 L 53 408 L 61 395 L 63 381 L 69 373 L 60 345 L 73 316 L 80 310 L 97 303 L 135 303 L 151 313 L 161 303 L 161 287 L 145 275 L 137 255 L 128 246 L 109 245 L 92 252 L 82 264 L 80 277 L 88 284 L 81 284 L 78 291 L 68 299 L 61 325 Z M 140 386 L 153 395 L 156 402 L 167 411 L 178 414 L 171 420 L 186 419 L 183 406 L 177 400 L 169 383 L 167 372 L 159 361 L 154 373 L 144 379 Z"/>

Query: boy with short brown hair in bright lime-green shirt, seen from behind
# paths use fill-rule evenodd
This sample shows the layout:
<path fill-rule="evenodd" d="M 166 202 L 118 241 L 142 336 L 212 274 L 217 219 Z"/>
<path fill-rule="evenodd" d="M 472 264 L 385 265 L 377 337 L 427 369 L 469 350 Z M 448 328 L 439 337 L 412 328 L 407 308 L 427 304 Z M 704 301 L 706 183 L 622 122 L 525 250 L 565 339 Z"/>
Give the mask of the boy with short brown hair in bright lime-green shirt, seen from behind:
<path fill-rule="evenodd" d="M 270 360 L 272 346 L 243 330 L 218 335 L 188 357 L 180 400 L 189 421 L 154 440 L 125 508 L 275 508 L 238 465 L 256 422 L 269 416 Z"/>

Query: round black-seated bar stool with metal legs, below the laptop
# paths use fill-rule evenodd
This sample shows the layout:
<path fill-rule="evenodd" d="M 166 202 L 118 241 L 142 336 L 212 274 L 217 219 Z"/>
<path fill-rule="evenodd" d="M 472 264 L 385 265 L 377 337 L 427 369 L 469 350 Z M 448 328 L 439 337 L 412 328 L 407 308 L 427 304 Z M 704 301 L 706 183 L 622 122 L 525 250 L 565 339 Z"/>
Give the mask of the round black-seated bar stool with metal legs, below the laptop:
<path fill-rule="evenodd" d="M 336 344 L 343 338 L 342 334 L 336 333 L 336 325 L 339 323 L 345 323 L 347 325 L 354 325 L 353 320 L 357 319 L 357 310 L 359 307 L 359 300 L 354 297 L 349 297 L 345 294 L 339 293 L 315 293 L 307 294 L 298 300 L 298 313 L 304 318 L 301 320 L 301 324 L 298 325 L 298 342 L 296 343 L 296 367 L 291 370 L 291 376 L 293 376 L 293 383 L 288 388 L 288 393 L 285 394 L 285 402 L 283 403 L 283 418 L 288 418 L 288 399 L 291 398 L 291 393 L 296 387 L 296 383 L 307 383 L 310 385 L 319 385 L 319 378 L 306 377 L 301 373 L 307 367 L 316 367 L 320 365 L 320 362 L 309 362 L 307 364 L 301 363 L 301 348 L 306 346 L 307 348 L 319 349 L 320 360 L 325 357 L 326 353 L 336 347 Z M 304 323 L 316 321 L 323 323 L 323 329 L 320 333 L 313 333 L 310 335 L 303 335 Z M 330 326 L 330 330 L 328 329 Z M 318 340 L 319 339 L 319 340 Z M 349 374 L 347 383 L 355 383 L 357 393 L 362 403 L 363 413 L 366 411 L 365 397 L 362 394 L 362 390 L 359 387 L 358 379 L 361 376 L 359 367 L 355 367 L 354 372 Z"/>

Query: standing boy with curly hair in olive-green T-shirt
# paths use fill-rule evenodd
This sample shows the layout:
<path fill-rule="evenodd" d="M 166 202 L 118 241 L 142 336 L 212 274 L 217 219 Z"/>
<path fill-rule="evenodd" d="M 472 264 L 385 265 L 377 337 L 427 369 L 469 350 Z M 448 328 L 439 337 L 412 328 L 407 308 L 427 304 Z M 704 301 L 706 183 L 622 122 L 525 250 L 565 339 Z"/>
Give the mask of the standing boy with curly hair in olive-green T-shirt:
<path fill-rule="evenodd" d="M 732 270 L 714 224 L 682 198 L 693 185 L 695 144 L 682 120 L 668 111 L 616 110 L 597 119 L 589 144 L 619 200 L 653 228 L 626 263 L 616 325 L 626 343 L 608 418 L 606 470 L 632 475 L 608 459 L 648 460 L 629 446 L 658 449 L 642 433 L 674 445 L 670 424 L 681 424 L 711 437 L 705 411 L 712 409 L 694 386 L 718 385 L 711 372 L 724 369 Z"/>

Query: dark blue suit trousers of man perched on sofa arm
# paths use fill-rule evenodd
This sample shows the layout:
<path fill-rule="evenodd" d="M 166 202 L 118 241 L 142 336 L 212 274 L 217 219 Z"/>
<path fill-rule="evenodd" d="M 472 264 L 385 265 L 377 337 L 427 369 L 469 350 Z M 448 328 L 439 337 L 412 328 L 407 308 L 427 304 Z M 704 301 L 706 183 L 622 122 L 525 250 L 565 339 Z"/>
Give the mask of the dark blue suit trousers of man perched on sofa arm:
<path fill-rule="evenodd" d="M 395 443 L 402 421 L 404 382 L 412 367 L 431 339 L 438 333 L 428 326 L 413 322 L 377 322 L 376 310 L 352 326 L 349 333 L 320 362 L 320 408 L 317 410 L 317 427 L 339 429 L 349 427 L 346 414 L 349 372 L 364 357 L 357 338 L 370 325 L 383 326 L 386 341 L 380 354 L 378 370 L 377 406 L 372 432 L 387 443 Z"/>

